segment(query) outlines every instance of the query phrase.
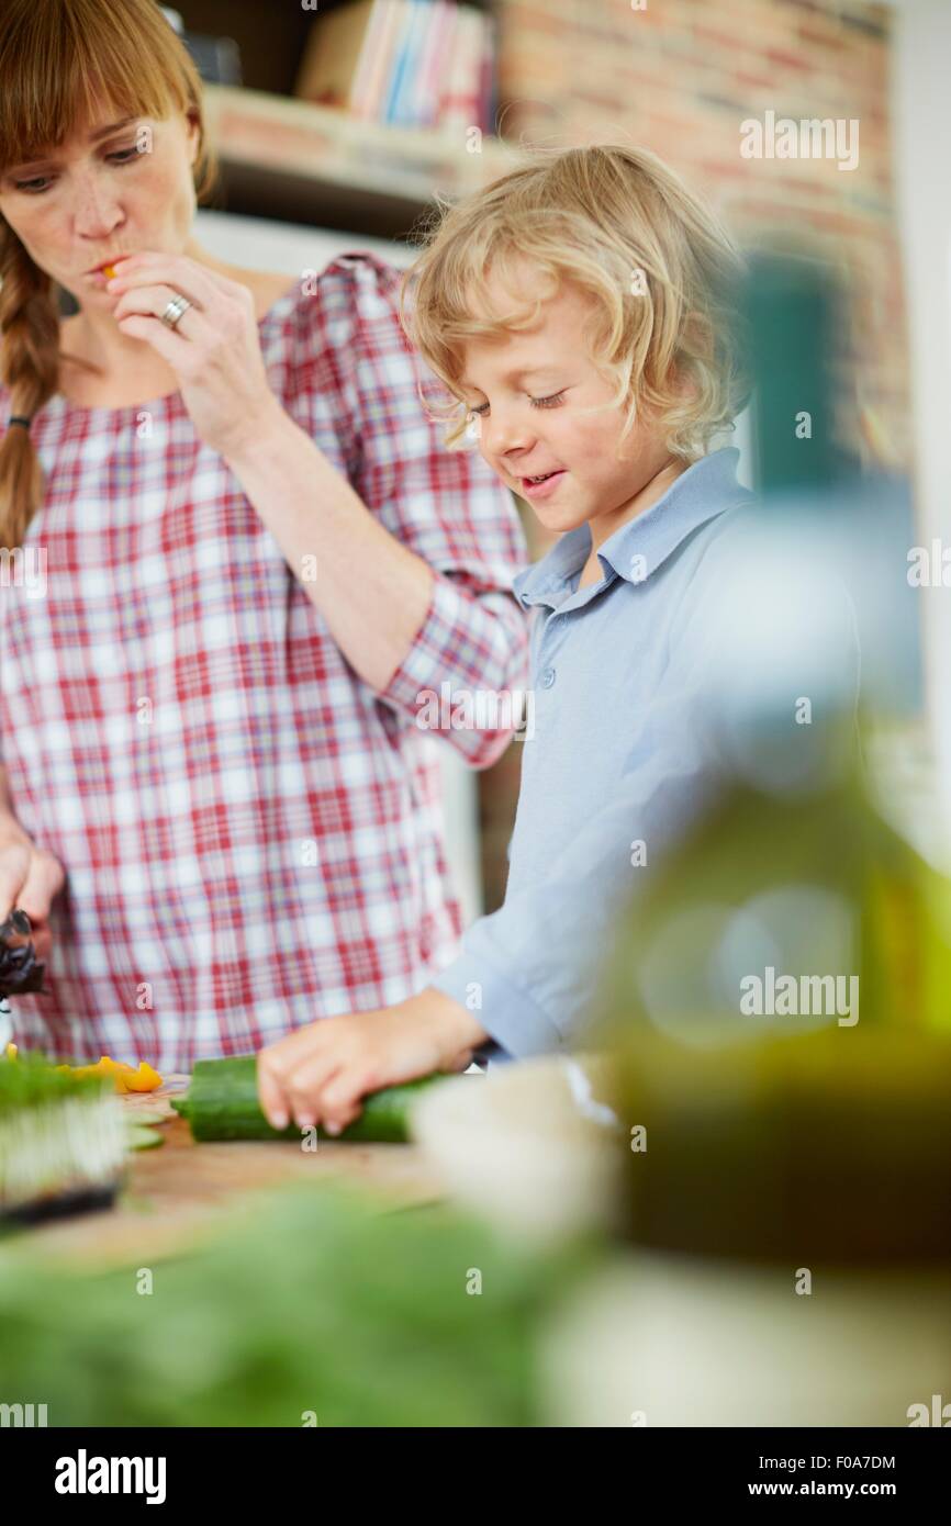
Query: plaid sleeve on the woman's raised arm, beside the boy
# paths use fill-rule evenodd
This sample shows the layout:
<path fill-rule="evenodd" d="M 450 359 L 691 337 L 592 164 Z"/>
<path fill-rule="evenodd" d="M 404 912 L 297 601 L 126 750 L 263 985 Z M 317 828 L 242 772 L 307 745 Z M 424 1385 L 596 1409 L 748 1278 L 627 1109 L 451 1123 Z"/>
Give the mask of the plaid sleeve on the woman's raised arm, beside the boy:
<path fill-rule="evenodd" d="M 426 618 L 379 700 L 475 768 L 511 739 L 528 682 L 528 624 L 511 583 L 528 554 L 511 494 L 478 452 L 447 450 L 420 398 L 426 378 L 398 317 L 400 273 L 345 255 L 327 324 L 368 510 L 434 571 Z"/>

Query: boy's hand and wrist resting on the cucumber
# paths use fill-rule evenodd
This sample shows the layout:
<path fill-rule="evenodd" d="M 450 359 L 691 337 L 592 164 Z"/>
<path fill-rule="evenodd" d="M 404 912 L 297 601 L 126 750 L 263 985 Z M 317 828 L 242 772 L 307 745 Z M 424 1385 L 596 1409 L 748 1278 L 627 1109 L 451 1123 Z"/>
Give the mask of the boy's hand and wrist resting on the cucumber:
<path fill-rule="evenodd" d="M 472 1012 L 429 986 L 418 996 L 340 1018 L 324 1018 L 258 1054 L 258 1097 L 275 1129 L 321 1123 L 339 1134 L 360 1116 L 360 1099 L 435 1070 L 466 1070 L 488 1035 Z"/>

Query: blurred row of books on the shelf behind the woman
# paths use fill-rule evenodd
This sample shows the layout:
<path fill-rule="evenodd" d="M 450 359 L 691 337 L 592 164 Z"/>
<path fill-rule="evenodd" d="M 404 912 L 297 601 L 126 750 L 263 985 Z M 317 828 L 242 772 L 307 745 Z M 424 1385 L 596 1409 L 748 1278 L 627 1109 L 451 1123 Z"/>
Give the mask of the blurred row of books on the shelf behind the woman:
<path fill-rule="evenodd" d="M 314 18 L 295 93 L 368 122 L 492 131 L 495 20 L 456 0 L 353 0 Z"/>

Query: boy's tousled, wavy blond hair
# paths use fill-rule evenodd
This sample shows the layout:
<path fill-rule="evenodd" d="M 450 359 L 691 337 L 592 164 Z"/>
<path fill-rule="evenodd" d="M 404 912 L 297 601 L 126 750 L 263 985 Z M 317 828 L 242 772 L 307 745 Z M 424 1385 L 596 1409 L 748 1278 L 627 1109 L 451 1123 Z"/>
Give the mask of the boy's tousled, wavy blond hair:
<path fill-rule="evenodd" d="M 750 386 L 737 307 L 743 261 L 719 218 L 643 148 L 595 145 L 531 160 L 424 229 L 403 279 L 408 337 L 449 397 L 424 401 L 466 436 L 461 346 L 534 322 L 562 281 L 595 299 L 591 360 L 626 410 L 621 446 L 643 409 L 664 423 L 672 455 L 696 461 L 733 427 Z M 531 299 L 514 266 L 537 270 Z M 522 266 L 524 270 L 524 266 Z M 488 279 L 511 290 L 499 311 Z"/>

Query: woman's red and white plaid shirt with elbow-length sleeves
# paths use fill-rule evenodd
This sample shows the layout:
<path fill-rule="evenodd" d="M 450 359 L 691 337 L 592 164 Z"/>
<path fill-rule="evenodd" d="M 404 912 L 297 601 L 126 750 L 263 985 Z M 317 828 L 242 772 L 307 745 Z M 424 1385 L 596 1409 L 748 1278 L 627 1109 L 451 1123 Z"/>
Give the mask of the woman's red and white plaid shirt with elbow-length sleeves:
<path fill-rule="evenodd" d="M 119 409 L 56 395 L 34 423 L 47 485 L 0 583 L 0 761 L 67 884 L 49 995 L 11 1003 L 27 1048 L 185 1071 L 398 1001 L 455 952 L 434 752 L 481 766 L 508 736 L 437 740 L 417 696 L 524 687 L 508 589 L 527 557 L 508 494 L 426 418 L 398 282 L 345 255 L 260 325 L 287 412 L 437 572 L 383 693 L 179 394 Z"/>

